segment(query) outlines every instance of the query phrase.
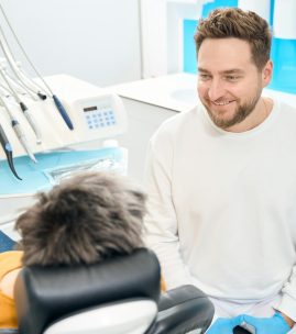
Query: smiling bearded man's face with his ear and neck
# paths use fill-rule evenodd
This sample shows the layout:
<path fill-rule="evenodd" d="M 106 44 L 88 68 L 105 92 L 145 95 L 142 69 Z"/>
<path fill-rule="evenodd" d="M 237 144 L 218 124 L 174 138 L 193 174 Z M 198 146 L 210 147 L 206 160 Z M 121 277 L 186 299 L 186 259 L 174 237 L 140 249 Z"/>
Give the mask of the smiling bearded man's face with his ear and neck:
<path fill-rule="evenodd" d="M 261 92 L 271 80 L 271 60 L 259 71 L 250 44 L 238 38 L 204 41 L 198 59 L 199 98 L 217 126 L 242 132 L 264 121 L 272 102 Z"/>

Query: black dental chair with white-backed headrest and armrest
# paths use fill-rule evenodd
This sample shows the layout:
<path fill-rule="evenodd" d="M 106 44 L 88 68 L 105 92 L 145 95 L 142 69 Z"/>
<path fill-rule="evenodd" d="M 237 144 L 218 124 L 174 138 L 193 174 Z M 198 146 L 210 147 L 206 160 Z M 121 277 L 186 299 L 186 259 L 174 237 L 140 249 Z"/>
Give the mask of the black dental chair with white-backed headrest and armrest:
<path fill-rule="evenodd" d="M 213 316 L 206 294 L 193 286 L 161 294 L 160 277 L 146 248 L 91 266 L 25 267 L 14 289 L 18 333 L 205 333 Z"/>

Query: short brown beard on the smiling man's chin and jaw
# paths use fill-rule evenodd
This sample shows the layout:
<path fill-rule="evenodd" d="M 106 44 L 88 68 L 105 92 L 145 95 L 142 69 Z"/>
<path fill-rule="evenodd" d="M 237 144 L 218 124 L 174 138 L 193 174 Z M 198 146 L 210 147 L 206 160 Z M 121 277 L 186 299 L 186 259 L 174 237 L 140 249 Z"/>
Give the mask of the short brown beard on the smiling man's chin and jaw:
<path fill-rule="evenodd" d="M 230 119 L 220 118 L 219 115 L 217 115 L 215 112 L 211 111 L 211 109 L 208 107 L 208 104 L 206 104 L 206 103 L 202 103 L 202 104 L 207 109 L 208 114 L 209 114 L 210 119 L 212 120 L 212 122 L 218 127 L 227 130 L 228 127 L 231 127 L 231 126 L 244 121 L 254 110 L 260 97 L 261 97 L 261 91 L 257 91 L 256 96 L 252 100 L 249 100 L 245 103 L 238 105 L 233 116 Z M 209 99 L 207 99 L 206 101 L 209 102 Z"/>

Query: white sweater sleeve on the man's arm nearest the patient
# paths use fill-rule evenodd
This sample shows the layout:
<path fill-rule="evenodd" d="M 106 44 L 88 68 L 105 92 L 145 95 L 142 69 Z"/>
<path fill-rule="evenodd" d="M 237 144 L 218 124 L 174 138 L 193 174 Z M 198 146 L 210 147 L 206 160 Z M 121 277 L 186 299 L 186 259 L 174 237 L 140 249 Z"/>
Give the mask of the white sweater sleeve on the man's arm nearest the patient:
<path fill-rule="evenodd" d="M 173 155 L 167 134 L 152 137 L 145 170 L 149 194 L 145 242 L 160 259 L 167 289 L 191 282 L 179 252 L 178 222 L 172 199 Z"/>

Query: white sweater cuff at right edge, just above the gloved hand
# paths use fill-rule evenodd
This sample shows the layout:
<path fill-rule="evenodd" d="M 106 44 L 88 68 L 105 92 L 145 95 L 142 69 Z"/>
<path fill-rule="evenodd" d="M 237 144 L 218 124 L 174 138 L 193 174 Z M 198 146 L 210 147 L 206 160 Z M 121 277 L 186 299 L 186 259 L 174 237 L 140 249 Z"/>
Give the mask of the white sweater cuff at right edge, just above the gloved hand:
<path fill-rule="evenodd" d="M 294 266 L 289 280 L 285 283 L 282 292 L 283 299 L 277 309 L 296 322 L 296 266 Z"/>

